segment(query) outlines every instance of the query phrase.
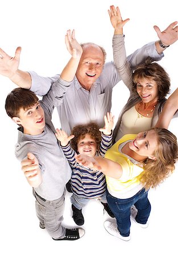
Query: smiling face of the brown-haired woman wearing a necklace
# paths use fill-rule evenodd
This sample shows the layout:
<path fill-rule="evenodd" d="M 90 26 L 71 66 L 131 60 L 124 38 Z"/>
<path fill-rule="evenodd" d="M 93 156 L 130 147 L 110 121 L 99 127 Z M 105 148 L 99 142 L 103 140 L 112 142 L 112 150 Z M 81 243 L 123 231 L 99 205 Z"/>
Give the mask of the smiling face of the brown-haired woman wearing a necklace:
<path fill-rule="evenodd" d="M 154 80 L 138 80 L 136 83 L 136 92 L 139 94 L 143 103 L 158 101 L 158 85 Z"/>

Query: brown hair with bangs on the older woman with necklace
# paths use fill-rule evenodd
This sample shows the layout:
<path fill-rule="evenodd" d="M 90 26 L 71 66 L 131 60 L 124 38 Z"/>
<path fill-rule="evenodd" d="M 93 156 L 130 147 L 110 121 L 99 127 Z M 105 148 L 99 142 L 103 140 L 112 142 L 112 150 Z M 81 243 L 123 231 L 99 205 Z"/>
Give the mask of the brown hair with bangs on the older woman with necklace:
<path fill-rule="evenodd" d="M 144 64 L 138 65 L 133 73 L 133 91 L 136 93 L 138 80 L 154 80 L 158 85 L 158 97 L 162 100 L 170 90 L 171 82 L 167 72 L 158 63 L 152 62 L 148 57 Z"/>

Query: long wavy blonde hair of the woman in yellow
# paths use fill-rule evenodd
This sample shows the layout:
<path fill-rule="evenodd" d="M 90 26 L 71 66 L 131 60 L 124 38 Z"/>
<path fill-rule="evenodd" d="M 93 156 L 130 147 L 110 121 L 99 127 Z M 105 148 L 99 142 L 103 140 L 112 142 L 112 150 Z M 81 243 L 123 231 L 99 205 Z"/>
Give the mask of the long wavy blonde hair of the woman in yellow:
<path fill-rule="evenodd" d="M 155 188 L 162 183 L 166 177 L 175 170 L 175 163 L 178 158 L 178 145 L 175 135 L 162 128 L 151 128 L 154 130 L 158 140 L 154 156 L 156 160 L 147 158 L 144 162 L 144 171 L 139 175 L 139 180 L 144 188 Z"/>

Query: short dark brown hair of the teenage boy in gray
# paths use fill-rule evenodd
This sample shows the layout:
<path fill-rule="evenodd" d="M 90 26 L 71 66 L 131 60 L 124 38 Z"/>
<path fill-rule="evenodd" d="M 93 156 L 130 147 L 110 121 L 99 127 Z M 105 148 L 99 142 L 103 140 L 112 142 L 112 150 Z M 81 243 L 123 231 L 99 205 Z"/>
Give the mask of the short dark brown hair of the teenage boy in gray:
<path fill-rule="evenodd" d="M 5 109 L 9 117 L 19 117 L 20 109 L 26 110 L 38 103 L 39 99 L 35 93 L 23 88 L 15 88 L 8 94 Z"/>

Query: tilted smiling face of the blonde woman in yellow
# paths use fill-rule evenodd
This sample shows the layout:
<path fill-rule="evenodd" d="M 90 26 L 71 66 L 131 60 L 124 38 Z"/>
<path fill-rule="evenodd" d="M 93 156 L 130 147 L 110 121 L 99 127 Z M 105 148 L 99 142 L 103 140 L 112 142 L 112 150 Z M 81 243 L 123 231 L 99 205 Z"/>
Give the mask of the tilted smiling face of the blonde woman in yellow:
<path fill-rule="evenodd" d="M 154 130 L 139 133 L 136 138 L 129 142 L 129 148 L 140 156 L 155 159 L 154 152 L 158 146 L 158 138 Z"/>

